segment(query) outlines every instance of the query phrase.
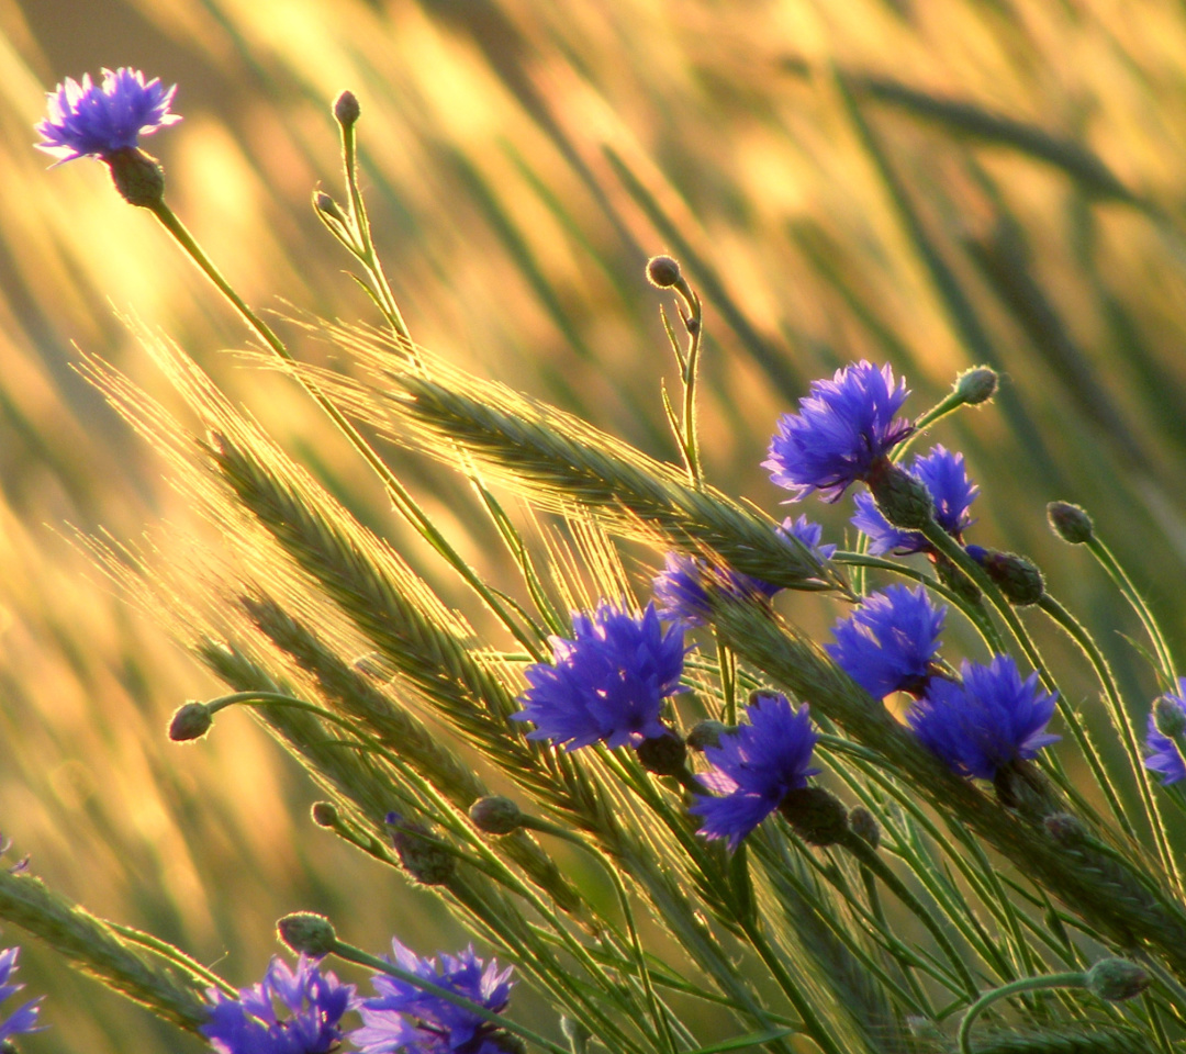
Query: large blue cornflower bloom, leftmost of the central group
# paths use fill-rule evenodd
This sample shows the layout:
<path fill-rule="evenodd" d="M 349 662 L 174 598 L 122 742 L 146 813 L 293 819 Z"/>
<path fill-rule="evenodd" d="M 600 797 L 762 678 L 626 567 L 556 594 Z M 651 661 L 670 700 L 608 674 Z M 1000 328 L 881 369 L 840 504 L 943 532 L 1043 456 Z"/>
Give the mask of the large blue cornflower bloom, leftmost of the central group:
<path fill-rule="evenodd" d="M 511 717 L 534 721 L 533 740 L 551 740 L 568 750 L 604 740 L 610 747 L 662 736 L 663 701 L 677 691 L 683 673 L 683 624 L 665 632 L 653 603 L 642 615 L 607 600 L 594 614 L 573 614 L 574 638 L 551 638 L 555 664 L 527 670 L 531 688 Z"/>

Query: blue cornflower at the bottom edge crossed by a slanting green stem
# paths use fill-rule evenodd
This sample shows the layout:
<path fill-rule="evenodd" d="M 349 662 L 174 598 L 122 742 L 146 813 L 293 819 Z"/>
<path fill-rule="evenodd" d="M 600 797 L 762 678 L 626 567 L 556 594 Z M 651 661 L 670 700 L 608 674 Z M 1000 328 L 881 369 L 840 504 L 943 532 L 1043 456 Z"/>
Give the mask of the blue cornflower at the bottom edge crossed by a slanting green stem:
<path fill-rule="evenodd" d="M 500 1014 L 510 999 L 511 969 L 499 971 L 491 959 L 484 964 L 473 946 L 459 956 L 421 959 L 400 941 L 393 940 L 390 960 L 440 988 Z M 504 1054 L 497 1029 L 472 1010 L 431 995 L 414 984 L 376 973 L 371 978 L 377 996 L 364 999 L 361 1009 L 364 1028 L 350 1033 L 350 1042 L 362 1054 L 407 1050 L 408 1054 Z"/>

